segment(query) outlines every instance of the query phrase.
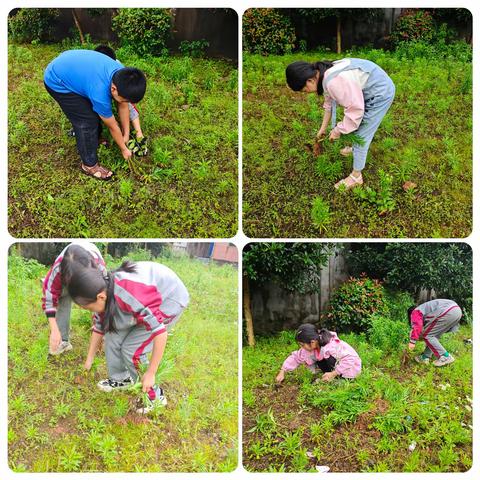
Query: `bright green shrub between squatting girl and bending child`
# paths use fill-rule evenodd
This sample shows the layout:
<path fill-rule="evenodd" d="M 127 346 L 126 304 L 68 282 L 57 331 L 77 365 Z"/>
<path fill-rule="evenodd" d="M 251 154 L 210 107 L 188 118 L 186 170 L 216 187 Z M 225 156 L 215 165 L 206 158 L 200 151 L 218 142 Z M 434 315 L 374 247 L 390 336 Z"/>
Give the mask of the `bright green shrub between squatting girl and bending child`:
<path fill-rule="evenodd" d="M 373 315 L 370 318 L 368 339 L 383 352 L 396 352 L 405 346 L 408 339 L 409 325 L 406 315 L 404 321 Z"/>

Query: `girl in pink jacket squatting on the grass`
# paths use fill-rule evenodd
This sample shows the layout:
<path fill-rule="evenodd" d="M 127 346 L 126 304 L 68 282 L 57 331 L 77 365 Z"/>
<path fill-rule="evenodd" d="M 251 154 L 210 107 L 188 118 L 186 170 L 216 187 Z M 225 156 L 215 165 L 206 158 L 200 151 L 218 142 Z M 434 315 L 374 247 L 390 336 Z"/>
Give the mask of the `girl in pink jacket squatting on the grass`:
<path fill-rule="evenodd" d="M 335 332 L 323 328 L 318 331 L 315 325 L 305 323 L 298 327 L 295 340 L 300 350 L 292 352 L 283 362 L 276 380 L 282 382 L 285 372 L 306 365 L 312 372 L 321 370 L 322 380 L 330 382 L 335 377 L 355 378 L 360 374 L 362 361 L 358 353 Z"/>

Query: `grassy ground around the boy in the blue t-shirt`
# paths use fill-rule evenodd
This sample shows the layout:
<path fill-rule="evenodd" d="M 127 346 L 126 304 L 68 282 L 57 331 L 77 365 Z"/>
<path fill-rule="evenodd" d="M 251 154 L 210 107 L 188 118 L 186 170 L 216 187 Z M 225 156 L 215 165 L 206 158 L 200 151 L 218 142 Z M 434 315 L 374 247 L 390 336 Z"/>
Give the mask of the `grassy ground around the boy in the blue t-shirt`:
<path fill-rule="evenodd" d="M 70 124 L 43 86 L 67 47 L 9 47 L 9 230 L 15 237 L 231 237 L 237 231 L 237 70 L 188 57 L 118 58 L 142 69 L 150 153 L 129 171 L 101 147 L 112 182 L 81 174 Z M 107 130 L 105 134 L 108 134 Z"/>

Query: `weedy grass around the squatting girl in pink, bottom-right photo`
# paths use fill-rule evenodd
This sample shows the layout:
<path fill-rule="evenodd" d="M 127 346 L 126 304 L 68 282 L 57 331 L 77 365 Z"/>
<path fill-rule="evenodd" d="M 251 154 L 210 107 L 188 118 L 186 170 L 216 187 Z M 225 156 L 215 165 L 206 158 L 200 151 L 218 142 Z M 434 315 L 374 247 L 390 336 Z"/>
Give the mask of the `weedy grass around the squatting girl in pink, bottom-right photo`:
<path fill-rule="evenodd" d="M 362 358 L 363 370 L 356 380 L 314 384 L 311 373 L 299 367 L 278 388 L 275 375 L 286 356 L 298 348 L 294 332 L 260 338 L 254 348 L 243 351 L 245 468 L 468 470 L 472 465 L 472 351 L 463 339 L 471 334 L 471 327 L 464 325 L 457 334 L 442 337 L 456 358 L 444 368 L 413 360 L 401 367 L 400 352 L 387 353 L 364 336 L 340 335 Z"/>

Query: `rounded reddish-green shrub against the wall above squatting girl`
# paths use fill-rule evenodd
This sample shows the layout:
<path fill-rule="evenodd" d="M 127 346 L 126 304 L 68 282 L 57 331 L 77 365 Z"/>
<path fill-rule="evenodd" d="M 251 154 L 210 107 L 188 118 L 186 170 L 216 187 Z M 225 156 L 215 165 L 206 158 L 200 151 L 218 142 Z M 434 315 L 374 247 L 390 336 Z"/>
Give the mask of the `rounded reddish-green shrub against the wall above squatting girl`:
<path fill-rule="evenodd" d="M 372 315 L 387 311 L 383 286 L 367 277 L 349 278 L 335 290 L 327 312 L 328 325 L 339 332 L 364 332 Z"/>

